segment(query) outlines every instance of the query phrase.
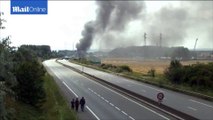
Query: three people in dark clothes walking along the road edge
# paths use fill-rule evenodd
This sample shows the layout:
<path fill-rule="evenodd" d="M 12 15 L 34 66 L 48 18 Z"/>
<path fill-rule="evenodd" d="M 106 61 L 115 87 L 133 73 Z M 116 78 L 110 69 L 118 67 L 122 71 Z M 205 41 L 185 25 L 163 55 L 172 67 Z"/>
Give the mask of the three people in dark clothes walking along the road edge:
<path fill-rule="evenodd" d="M 81 106 L 81 111 L 84 112 L 85 103 L 86 103 L 86 101 L 85 101 L 84 97 L 82 97 L 80 99 L 80 101 L 78 100 L 78 98 L 76 98 L 76 99 L 73 98 L 72 101 L 71 101 L 71 108 L 73 110 L 75 109 L 76 112 L 78 112 L 78 108 L 79 108 L 79 105 L 80 105 Z"/>

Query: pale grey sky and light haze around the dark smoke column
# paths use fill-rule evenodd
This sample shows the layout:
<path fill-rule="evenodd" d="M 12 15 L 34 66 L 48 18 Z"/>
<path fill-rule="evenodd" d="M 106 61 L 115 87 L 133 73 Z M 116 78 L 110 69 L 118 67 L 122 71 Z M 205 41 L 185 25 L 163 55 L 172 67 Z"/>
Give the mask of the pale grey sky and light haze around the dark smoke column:
<path fill-rule="evenodd" d="M 143 45 L 144 32 L 148 45 L 158 44 L 162 33 L 165 46 L 192 49 L 198 38 L 197 48 L 213 48 L 213 1 L 145 1 L 137 3 L 143 7 L 135 10 L 129 9 L 134 8 L 134 3 L 116 4 L 126 12 L 111 11 L 111 16 L 121 16 L 105 21 L 107 31 L 94 36 L 92 49 Z M 100 14 L 95 1 L 49 1 L 48 15 L 10 15 L 9 1 L 1 1 L 0 10 L 5 12 L 7 20 L 7 29 L 1 31 L 1 36 L 11 35 L 12 45 L 47 44 L 54 50 L 72 50 L 82 39 L 85 24 L 95 21 Z M 138 14 L 131 16 L 128 12 Z"/>

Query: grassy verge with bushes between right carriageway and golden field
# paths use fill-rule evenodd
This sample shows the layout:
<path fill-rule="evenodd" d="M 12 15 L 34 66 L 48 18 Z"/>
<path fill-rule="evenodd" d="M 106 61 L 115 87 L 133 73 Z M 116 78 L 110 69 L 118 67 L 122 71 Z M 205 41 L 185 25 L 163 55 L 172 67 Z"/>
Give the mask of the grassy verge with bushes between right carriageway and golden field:
<path fill-rule="evenodd" d="M 140 82 L 152 84 L 155 86 L 159 86 L 162 88 L 170 89 L 173 91 L 181 92 L 184 94 L 188 94 L 191 96 L 199 97 L 202 99 L 206 99 L 209 101 L 213 101 L 213 91 L 210 89 L 205 89 L 205 88 L 196 88 L 196 87 L 191 87 L 187 84 L 174 84 L 168 79 L 165 78 L 163 75 L 155 75 L 155 77 L 152 77 L 147 74 L 143 73 L 138 73 L 138 72 L 121 72 L 121 73 L 116 73 L 115 71 L 112 71 L 110 69 L 103 69 L 100 67 L 100 65 L 97 64 L 92 64 L 90 62 L 85 62 L 85 61 L 78 61 L 78 60 L 70 60 L 70 62 L 83 65 L 86 67 L 94 68 L 97 70 L 101 70 L 104 72 L 112 73 L 115 75 L 119 75 L 122 77 L 130 78 L 131 80 L 137 80 Z"/>

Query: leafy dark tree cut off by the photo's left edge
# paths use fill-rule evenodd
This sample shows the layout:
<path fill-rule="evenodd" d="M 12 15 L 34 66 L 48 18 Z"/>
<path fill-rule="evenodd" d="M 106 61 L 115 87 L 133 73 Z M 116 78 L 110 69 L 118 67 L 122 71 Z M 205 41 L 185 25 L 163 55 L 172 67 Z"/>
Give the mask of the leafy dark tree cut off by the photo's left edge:
<path fill-rule="evenodd" d="M 0 12 L 0 30 L 5 29 L 3 23 L 6 22 L 2 18 L 4 13 Z M 1 34 L 0 34 L 1 35 Z M 10 94 L 14 95 L 11 88 L 16 85 L 16 78 L 13 75 L 13 61 L 12 61 L 13 48 L 10 47 L 10 38 L 2 38 L 0 36 L 0 119 L 5 120 L 7 110 L 5 109 L 4 96 Z"/>

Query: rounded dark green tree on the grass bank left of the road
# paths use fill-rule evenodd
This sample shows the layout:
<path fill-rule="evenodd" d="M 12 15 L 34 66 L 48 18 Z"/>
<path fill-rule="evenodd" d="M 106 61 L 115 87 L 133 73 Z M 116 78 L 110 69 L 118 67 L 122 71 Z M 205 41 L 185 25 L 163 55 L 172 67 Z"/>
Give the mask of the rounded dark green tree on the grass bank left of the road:
<path fill-rule="evenodd" d="M 45 99 L 44 74 L 45 70 L 37 60 L 20 63 L 16 70 L 18 85 L 15 87 L 18 100 L 39 107 Z"/>

